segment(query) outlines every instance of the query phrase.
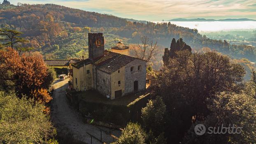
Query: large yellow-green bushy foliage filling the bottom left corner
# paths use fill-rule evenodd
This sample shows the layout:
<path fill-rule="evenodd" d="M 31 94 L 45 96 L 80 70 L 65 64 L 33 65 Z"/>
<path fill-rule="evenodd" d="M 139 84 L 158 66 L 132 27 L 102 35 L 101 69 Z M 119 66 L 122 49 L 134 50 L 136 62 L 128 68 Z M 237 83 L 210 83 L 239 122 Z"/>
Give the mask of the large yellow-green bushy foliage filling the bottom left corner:
<path fill-rule="evenodd" d="M 45 143 L 56 134 L 44 105 L 0 92 L 0 143 Z"/>

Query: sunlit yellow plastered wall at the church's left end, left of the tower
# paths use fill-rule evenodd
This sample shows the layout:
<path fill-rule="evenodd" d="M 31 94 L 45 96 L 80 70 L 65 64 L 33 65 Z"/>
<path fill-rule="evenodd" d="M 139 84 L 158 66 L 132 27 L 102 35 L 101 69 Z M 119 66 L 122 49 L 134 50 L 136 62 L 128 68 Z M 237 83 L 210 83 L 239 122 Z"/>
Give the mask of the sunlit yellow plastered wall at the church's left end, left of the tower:
<path fill-rule="evenodd" d="M 89 74 L 87 74 L 87 70 L 89 70 Z M 88 64 L 83 67 L 80 67 L 77 69 L 76 67 L 73 67 L 73 88 L 76 91 L 84 91 L 84 88 L 86 90 L 92 89 L 93 86 L 93 65 Z M 77 83 L 76 83 L 77 78 Z"/>

